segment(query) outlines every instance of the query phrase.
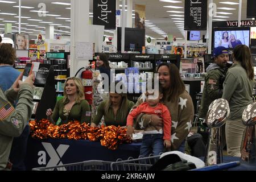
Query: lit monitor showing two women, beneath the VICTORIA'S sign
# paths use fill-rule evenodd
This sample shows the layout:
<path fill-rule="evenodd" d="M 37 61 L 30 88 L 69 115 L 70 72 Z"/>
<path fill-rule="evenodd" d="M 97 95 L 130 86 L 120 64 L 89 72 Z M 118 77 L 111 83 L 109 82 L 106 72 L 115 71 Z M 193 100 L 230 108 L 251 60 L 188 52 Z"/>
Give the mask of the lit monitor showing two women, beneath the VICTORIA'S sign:
<path fill-rule="evenodd" d="M 224 46 L 233 49 L 237 45 L 250 46 L 250 27 L 213 28 L 213 48 Z"/>

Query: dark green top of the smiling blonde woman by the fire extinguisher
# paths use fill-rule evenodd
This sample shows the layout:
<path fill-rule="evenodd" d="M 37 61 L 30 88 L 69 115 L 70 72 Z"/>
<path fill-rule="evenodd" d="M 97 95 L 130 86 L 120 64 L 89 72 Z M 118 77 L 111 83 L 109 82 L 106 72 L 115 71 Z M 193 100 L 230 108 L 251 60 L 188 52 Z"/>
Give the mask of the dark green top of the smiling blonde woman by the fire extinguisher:
<path fill-rule="evenodd" d="M 80 104 L 76 102 L 72 106 L 68 118 L 64 116 L 64 106 L 65 105 L 63 103 L 63 99 L 57 101 L 52 114 L 52 119 L 55 123 L 58 121 L 59 117 L 61 118 L 60 125 L 68 123 L 68 121 L 80 121 L 80 123 L 90 123 L 90 106 L 86 100 L 82 100 Z"/>

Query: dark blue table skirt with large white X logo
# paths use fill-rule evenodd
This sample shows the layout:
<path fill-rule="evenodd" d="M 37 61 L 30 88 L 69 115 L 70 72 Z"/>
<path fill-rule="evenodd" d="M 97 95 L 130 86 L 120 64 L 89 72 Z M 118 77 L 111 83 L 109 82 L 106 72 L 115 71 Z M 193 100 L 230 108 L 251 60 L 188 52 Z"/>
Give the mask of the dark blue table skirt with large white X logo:
<path fill-rule="evenodd" d="M 85 160 L 115 161 L 138 158 L 141 142 L 119 144 L 117 150 L 101 146 L 100 142 L 69 139 L 28 138 L 25 165 L 27 170 L 36 167 L 52 167 Z"/>

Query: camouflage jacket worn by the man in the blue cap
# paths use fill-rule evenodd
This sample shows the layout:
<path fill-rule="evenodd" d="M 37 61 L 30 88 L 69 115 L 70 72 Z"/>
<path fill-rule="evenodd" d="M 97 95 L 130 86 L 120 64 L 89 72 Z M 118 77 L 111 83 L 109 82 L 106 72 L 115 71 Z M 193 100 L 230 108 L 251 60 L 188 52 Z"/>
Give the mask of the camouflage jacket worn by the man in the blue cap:
<path fill-rule="evenodd" d="M 199 111 L 200 118 L 205 118 L 210 104 L 221 98 L 223 93 L 222 84 L 225 78 L 225 70 L 218 67 L 216 63 L 212 63 L 209 67 L 213 69 L 210 69 L 204 78 L 204 90 Z"/>

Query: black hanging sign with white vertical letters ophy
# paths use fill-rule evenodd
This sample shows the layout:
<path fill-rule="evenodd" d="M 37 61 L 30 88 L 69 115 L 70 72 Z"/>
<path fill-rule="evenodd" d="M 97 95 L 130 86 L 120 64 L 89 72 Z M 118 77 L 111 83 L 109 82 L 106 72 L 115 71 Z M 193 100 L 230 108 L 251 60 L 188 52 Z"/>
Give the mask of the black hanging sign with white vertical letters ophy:
<path fill-rule="evenodd" d="M 115 30 L 115 0 L 93 1 L 93 24 L 105 26 L 105 30 Z"/>

